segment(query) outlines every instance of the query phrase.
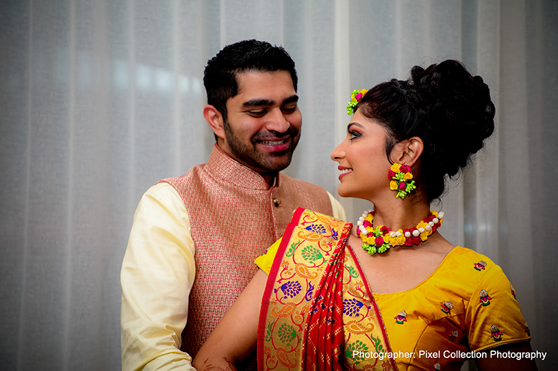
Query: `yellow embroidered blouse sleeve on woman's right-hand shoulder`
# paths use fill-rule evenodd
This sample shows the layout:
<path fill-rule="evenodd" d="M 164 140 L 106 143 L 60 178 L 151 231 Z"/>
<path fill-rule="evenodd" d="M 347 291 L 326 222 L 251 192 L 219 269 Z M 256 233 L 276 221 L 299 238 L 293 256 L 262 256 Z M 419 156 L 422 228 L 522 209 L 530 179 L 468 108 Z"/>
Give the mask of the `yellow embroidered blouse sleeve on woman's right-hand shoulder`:
<path fill-rule="evenodd" d="M 466 322 L 472 351 L 531 340 L 516 293 L 496 264 L 487 267 L 479 285 L 473 290 Z"/>

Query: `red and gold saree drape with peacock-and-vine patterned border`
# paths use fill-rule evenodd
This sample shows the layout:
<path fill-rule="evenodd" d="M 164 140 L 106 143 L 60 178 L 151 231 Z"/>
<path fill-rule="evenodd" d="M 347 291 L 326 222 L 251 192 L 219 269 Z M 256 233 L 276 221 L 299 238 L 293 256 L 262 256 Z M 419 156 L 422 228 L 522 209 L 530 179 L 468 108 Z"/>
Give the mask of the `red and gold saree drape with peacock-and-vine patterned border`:
<path fill-rule="evenodd" d="M 396 370 L 378 307 L 346 240 L 351 223 L 299 208 L 259 316 L 259 370 Z M 368 299 L 371 298 L 371 299 Z"/>

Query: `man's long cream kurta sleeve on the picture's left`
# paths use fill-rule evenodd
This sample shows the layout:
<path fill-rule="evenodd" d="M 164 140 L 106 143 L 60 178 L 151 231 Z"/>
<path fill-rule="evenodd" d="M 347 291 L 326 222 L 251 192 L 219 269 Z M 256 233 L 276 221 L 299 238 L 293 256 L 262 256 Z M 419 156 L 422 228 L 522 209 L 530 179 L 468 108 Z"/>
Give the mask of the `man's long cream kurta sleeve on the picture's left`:
<path fill-rule="evenodd" d="M 122 264 L 124 371 L 194 370 L 180 351 L 194 276 L 186 207 L 170 184 L 156 184 L 140 200 Z"/>

